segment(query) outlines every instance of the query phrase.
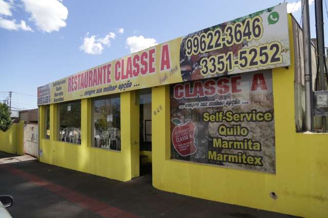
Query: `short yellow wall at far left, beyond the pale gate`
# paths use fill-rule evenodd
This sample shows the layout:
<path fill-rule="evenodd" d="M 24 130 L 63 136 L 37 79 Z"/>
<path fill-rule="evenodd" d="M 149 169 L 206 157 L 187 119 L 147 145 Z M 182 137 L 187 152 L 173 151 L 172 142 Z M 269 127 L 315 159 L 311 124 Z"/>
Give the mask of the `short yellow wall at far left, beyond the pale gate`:
<path fill-rule="evenodd" d="M 24 121 L 13 123 L 7 132 L 0 131 L 0 151 L 24 155 Z"/>

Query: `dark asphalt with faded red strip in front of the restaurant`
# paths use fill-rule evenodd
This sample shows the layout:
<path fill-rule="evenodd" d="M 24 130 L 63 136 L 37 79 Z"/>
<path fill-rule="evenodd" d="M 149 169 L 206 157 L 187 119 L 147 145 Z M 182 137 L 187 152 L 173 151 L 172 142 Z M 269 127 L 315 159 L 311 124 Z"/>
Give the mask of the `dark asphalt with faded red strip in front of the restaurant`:
<path fill-rule="evenodd" d="M 37 161 L 0 165 L 13 217 L 292 217 L 157 190 L 151 176 L 119 182 Z"/>

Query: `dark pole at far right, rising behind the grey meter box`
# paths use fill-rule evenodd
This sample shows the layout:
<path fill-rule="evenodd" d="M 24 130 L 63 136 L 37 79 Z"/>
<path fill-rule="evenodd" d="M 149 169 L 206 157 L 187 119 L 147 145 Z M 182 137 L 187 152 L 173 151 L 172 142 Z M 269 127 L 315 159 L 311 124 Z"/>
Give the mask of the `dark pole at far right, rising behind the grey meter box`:
<path fill-rule="evenodd" d="M 317 29 L 317 52 L 319 59 L 319 81 L 320 81 L 320 89 L 325 90 L 325 70 L 324 70 L 324 38 L 323 38 L 323 14 L 322 14 L 322 0 L 315 0 L 315 8 L 316 8 L 316 29 Z M 322 129 L 325 133 L 327 131 L 326 128 L 326 117 L 322 116 Z"/>

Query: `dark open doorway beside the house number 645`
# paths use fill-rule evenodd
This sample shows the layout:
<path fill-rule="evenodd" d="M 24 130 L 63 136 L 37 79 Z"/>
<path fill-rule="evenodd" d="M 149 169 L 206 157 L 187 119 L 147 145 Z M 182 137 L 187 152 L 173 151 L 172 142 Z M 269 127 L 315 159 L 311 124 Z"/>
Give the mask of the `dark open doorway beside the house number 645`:
<path fill-rule="evenodd" d="M 139 91 L 140 176 L 152 174 L 152 92 Z"/>

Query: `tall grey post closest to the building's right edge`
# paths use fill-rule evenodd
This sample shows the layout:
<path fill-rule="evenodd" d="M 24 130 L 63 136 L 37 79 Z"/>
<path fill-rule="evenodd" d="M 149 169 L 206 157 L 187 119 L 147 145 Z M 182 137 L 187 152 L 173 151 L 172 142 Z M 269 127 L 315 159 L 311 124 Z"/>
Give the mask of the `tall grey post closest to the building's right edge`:
<path fill-rule="evenodd" d="M 309 1 L 302 0 L 303 56 L 305 82 L 305 130 L 312 130 L 312 72 Z"/>

